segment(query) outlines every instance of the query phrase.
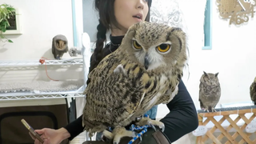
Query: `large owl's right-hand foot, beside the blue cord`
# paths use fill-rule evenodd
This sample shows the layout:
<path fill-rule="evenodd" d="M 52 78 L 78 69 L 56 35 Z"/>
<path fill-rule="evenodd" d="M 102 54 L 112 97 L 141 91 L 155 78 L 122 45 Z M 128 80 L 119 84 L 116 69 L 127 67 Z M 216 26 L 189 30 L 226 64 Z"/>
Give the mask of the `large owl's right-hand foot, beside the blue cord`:
<path fill-rule="evenodd" d="M 139 120 L 139 122 L 136 122 L 136 125 L 138 125 L 138 126 L 149 125 L 153 128 L 154 128 L 154 126 L 158 126 L 160 129 L 162 129 L 162 131 L 165 130 L 165 125 L 162 122 L 152 120 L 152 119 L 147 118 L 147 117 L 143 117 L 141 120 Z"/>

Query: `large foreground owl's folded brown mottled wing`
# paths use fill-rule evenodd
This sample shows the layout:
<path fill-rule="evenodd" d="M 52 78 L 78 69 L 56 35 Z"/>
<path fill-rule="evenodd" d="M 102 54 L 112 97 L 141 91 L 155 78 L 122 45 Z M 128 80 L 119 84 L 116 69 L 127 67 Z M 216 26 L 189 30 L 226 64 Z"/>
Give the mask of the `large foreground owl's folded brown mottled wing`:
<path fill-rule="evenodd" d="M 120 55 L 120 54 L 118 54 Z M 138 64 L 110 54 L 89 74 L 84 117 L 114 125 L 130 118 L 144 96 Z M 146 80 L 145 80 L 146 81 Z"/>

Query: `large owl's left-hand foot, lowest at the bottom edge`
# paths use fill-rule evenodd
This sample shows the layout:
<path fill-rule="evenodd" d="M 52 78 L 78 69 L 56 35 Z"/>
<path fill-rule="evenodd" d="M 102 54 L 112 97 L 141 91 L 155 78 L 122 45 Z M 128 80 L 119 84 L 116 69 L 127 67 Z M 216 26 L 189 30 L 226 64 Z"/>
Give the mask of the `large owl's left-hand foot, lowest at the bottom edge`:
<path fill-rule="evenodd" d="M 125 127 L 116 126 L 112 133 L 108 130 L 103 131 L 103 135 L 106 138 L 113 139 L 113 144 L 118 144 L 123 137 L 134 137 L 136 136 L 134 131 L 126 130 Z"/>

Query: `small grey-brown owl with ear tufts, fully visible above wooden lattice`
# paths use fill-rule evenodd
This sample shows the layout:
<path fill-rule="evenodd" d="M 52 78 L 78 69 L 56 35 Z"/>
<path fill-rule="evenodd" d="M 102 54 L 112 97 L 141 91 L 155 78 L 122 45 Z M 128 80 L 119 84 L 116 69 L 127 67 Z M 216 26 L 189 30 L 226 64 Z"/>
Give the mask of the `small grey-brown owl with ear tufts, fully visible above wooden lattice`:
<path fill-rule="evenodd" d="M 218 82 L 218 73 L 210 74 L 203 72 L 200 78 L 199 102 L 202 110 L 208 112 L 214 110 L 221 97 L 221 86 Z"/>

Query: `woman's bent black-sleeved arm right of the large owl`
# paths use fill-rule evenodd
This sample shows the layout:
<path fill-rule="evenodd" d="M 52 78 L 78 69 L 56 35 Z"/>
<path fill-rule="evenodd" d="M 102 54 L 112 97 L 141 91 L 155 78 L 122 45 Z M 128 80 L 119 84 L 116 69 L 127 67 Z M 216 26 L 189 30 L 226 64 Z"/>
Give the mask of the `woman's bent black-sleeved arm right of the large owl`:
<path fill-rule="evenodd" d="M 170 142 L 176 141 L 198 127 L 198 114 L 194 102 L 182 80 L 178 85 L 178 94 L 167 104 L 167 107 L 170 113 L 160 121 L 166 126 L 164 133 Z"/>

